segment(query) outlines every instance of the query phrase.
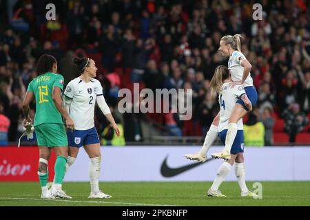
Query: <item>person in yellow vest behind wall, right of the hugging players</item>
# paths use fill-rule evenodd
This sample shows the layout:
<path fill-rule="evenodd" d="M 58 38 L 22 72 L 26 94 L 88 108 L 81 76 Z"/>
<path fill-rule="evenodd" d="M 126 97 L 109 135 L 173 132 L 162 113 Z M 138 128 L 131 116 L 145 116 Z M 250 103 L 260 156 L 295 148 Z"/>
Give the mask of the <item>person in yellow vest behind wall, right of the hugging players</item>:
<path fill-rule="evenodd" d="M 265 126 L 258 121 L 258 113 L 249 113 L 249 119 L 243 126 L 245 146 L 265 146 Z"/>

